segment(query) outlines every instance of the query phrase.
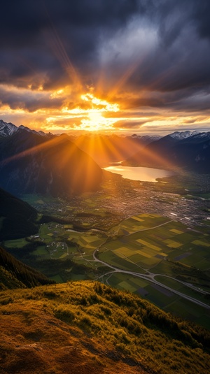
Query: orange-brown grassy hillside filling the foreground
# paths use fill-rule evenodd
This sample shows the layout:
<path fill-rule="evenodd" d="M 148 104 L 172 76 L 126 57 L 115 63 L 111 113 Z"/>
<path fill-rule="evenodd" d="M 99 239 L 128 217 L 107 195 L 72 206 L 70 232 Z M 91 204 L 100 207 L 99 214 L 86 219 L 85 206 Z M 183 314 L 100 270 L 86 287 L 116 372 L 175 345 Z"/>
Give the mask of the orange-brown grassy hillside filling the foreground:
<path fill-rule="evenodd" d="M 210 334 L 99 282 L 3 291 L 1 373 L 207 374 Z"/>

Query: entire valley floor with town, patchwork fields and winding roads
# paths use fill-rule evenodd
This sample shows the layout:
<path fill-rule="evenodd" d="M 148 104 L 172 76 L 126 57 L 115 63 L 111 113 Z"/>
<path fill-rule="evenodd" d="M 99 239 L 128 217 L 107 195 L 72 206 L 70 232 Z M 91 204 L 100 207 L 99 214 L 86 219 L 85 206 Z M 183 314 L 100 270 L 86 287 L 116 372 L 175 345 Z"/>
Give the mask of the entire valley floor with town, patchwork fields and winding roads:
<path fill-rule="evenodd" d="M 208 175 L 146 183 L 106 173 L 98 192 L 71 201 L 25 196 L 65 222 L 4 245 L 52 280 L 100 280 L 210 328 L 209 196 Z"/>

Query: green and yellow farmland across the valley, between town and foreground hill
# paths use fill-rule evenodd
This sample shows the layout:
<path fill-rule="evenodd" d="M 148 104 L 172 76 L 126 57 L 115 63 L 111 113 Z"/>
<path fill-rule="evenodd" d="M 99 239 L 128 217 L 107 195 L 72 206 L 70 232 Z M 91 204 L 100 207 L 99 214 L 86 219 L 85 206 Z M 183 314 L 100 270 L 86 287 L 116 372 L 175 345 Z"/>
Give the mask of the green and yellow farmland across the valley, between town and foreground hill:
<path fill-rule="evenodd" d="M 210 327 L 207 308 L 187 302 L 174 293 L 179 291 L 210 304 L 210 298 L 199 291 L 200 288 L 204 292 L 210 289 L 210 235 L 203 227 L 193 230 L 167 217 L 144 214 L 123 220 L 106 233 L 96 229 L 73 231 L 70 224 L 50 222 L 41 224 L 38 235 L 29 239 L 34 243 L 38 240 L 32 256 L 33 261 L 34 258 L 37 261 L 37 267 L 41 266 L 41 271 L 47 271 L 43 260 L 61 261 L 57 271 L 55 267 L 47 274 L 57 282 L 98 279 L 118 289 L 139 294 L 166 311 L 196 322 L 201 318 L 202 323 Z M 8 248 L 22 248 L 28 244 L 25 239 L 6 241 Z M 94 260 L 95 250 L 97 259 L 105 264 Z M 68 259 L 73 260 L 75 266 L 66 266 Z M 34 264 L 33 261 L 30 265 Z M 120 270 L 131 273 L 120 273 Z M 132 272 L 139 277 L 147 274 L 156 276 L 154 282 L 150 282 L 132 275 Z M 178 279 L 195 285 L 197 291 L 181 284 Z M 155 285 L 155 281 L 160 282 L 162 287 Z"/>

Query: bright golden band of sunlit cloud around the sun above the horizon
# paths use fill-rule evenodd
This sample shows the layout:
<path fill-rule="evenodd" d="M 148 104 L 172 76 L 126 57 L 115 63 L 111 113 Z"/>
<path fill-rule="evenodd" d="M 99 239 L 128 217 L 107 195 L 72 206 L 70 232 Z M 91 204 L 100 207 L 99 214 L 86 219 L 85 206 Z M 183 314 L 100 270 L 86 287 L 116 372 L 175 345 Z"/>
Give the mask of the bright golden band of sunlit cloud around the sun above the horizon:
<path fill-rule="evenodd" d="M 3 89 L 0 85 L 0 89 Z M 120 103 L 109 102 L 109 99 L 100 99 L 99 89 L 94 94 L 92 87 L 87 91 L 73 91 L 72 86 L 57 87 L 50 91 L 43 91 L 38 87 L 31 90 L 22 87 L 6 86 L 6 94 L 15 92 L 24 106 L 1 106 L 2 119 L 17 125 L 17 119 L 34 130 L 50 131 L 54 134 L 68 133 L 80 134 L 80 132 L 106 132 L 118 134 L 169 134 L 173 131 L 185 131 L 189 124 L 194 129 L 207 131 L 209 115 L 197 115 L 192 113 L 172 113 L 170 110 L 158 110 L 154 114 L 147 112 L 146 108 L 127 108 L 127 101 L 123 94 Z M 145 94 L 146 96 L 146 94 Z M 109 94 L 107 96 L 109 98 Z M 26 98 L 26 101 L 24 101 Z M 30 109 L 31 98 L 36 105 Z M 46 103 L 42 108 L 38 103 Z M 159 129 L 159 131 L 157 131 Z"/>

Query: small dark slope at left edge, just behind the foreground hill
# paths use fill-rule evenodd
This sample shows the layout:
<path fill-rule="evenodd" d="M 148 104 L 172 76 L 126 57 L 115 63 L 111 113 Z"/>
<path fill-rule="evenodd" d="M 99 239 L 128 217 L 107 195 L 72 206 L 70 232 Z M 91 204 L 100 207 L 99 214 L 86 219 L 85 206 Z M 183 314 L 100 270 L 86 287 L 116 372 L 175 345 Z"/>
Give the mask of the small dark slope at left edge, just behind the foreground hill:
<path fill-rule="evenodd" d="M 45 275 L 22 264 L 0 247 L 0 289 L 35 287 L 54 283 Z"/>

